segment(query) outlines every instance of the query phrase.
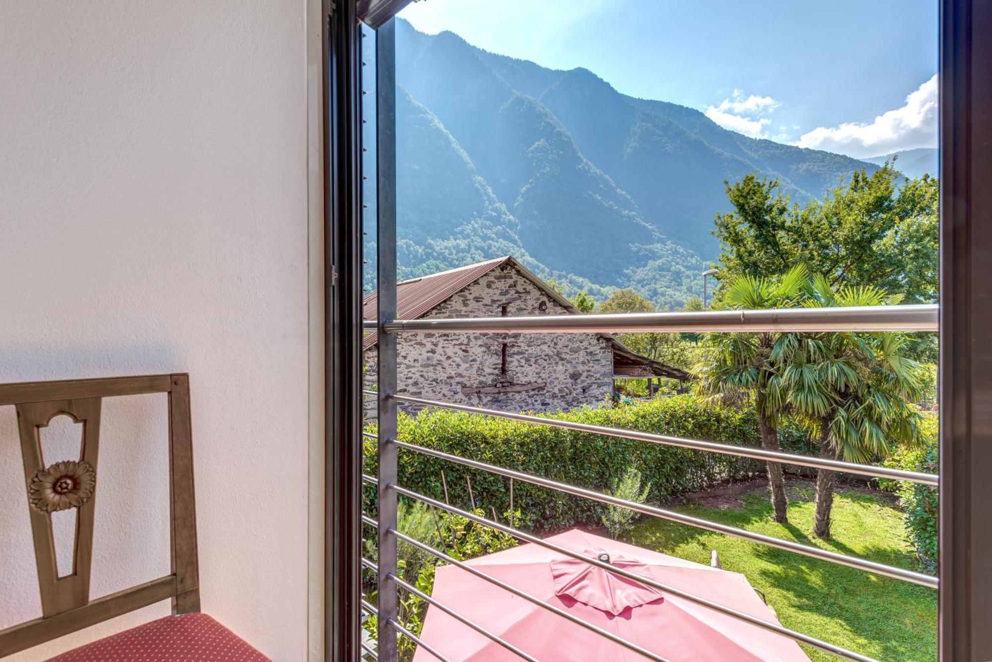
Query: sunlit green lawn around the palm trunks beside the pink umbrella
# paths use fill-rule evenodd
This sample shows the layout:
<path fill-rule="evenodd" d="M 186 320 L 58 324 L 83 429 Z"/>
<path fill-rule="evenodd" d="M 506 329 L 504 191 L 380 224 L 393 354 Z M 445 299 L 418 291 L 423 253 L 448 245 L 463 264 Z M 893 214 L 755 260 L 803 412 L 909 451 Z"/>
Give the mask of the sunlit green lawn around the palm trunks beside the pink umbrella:
<path fill-rule="evenodd" d="M 841 488 L 834 498 L 833 539 L 822 541 L 811 533 L 811 485 L 790 485 L 789 492 L 788 524 L 772 519 L 764 493 L 741 497 L 739 507 L 677 509 L 749 531 L 915 568 L 902 513 L 887 495 Z M 723 568 L 743 573 L 763 591 L 787 627 L 879 660 L 936 657 L 936 592 L 925 587 L 667 520 L 645 517 L 631 537 L 636 545 L 699 563 L 708 564 L 709 550 L 717 550 Z M 804 650 L 813 660 L 837 659 L 808 646 Z"/>

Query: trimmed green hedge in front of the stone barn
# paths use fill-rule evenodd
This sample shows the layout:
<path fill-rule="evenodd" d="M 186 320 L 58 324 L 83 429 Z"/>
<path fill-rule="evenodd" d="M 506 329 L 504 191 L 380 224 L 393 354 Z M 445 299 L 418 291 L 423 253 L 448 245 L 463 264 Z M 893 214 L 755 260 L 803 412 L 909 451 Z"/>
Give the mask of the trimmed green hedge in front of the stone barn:
<path fill-rule="evenodd" d="M 752 411 L 714 408 L 699 403 L 692 395 L 617 408 L 582 408 L 550 417 L 727 444 L 759 444 Z M 653 503 L 664 503 L 720 481 L 748 478 L 763 471 L 763 463 L 744 458 L 448 410 L 424 410 L 416 417 L 401 413 L 399 437 L 418 446 L 597 492 L 607 490 L 633 466 L 641 472 L 645 483 L 651 483 L 648 501 Z M 376 474 L 375 462 L 375 442 L 366 440 L 366 473 Z M 510 509 L 509 479 L 421 453 L 400 451 L 399 481 L 403 487 L 443 499 L 441 470 L 452 505 L 469 507 L 467 476 L 477 507 L 486 512 L 492 508 L 496 512 Z M 367 496 L 372 496 L 370 491 Z M 514 484 L 514 508 L 522 513 L 522 520 L 515 523 L 534 530 L 596 525 L 604 507 L 597 501 L 519 481 Z"/>

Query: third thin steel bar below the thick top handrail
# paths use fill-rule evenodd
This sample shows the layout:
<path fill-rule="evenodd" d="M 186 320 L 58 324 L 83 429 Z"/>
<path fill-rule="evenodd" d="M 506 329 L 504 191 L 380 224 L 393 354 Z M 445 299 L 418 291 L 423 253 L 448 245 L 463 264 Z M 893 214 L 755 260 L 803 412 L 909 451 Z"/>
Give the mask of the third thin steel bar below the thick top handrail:
<path fill-rule="evenodd" d="M 714 603 L 712 601 L 706 600 L 705 598 L 699 598 L 698 596 L 694 596 L 690 593 L 685 593 L 681 589 L 676 589 L 675 587 L 669 586 L 668 584 L 662 584 L 661 582 L 657 582 L 649 577 L 643 577 L 641 575 L 637 575 L 627 570 L 623 570 L 622 568 L 617 568 L 616 566 L 610 565 L 609 563 L 605 563 L 603 561 L 600 561 L 599 559 L 594 559 L 592 557 L 585 556 L 580 552 L 572 551 L 566 547 L 561 547 L 560 545 L 556 545 L 553 542 L 548 542 L 547 540 L 543 540 L 537 536 L 533 536 L 530 533 L 525 533 L 524 531 L 513 528 L 512 526 L 501 524 L 500 522 L 494 521 L 492 519 L 486 519 L 485 517 L 481 517 L 475 514 L 474 512 L 468 512 L 466 510 L 462 510 L 461 508 L 457 508 L 453 505 L 449 505 L 447 503 L 444 503 L 443 501 L 438 501 L 431 497 L 425 497 L 424 495 L 413 492 L 412 490 L 407 490 L 406 488 L 401 488 L 400 486 L 391 485 L 389 487 L 392 490 L 395 490 L 397 494 L 404 495 L 406 497 L 416 498 L 420 501 L 428 503 L 429 505 L 433 505 L 434 507 L 464 517 L 465 519 L 470 519 L 484 526 L 488 526 L 490 528 L 496 529 L 497 531 L 502 531 L 503 533 L 512 535 L 520 540 L 524 540 L 526 542 L 531 542 L 536 545 L 540 545 L 545 549 L 550 549 L 552 551 L 558 552 L 559 554 L 563 554 L 570 558 L 588 563 L 589 565 L 596 566 L 597 568 L 601 568 L 607 572 L 613 573 L 618 577 L 623 577 L 633 582 L 650 586 L 654 589 L 658 589 L 659 591 L 668 592 L 673 596 L 678 596 L 683 600 L 687 600 L 690 603 L 695 603 L 696 605 L 701 605 L 702 607 L 711 608 L 714 611 L 719 611 L 720 613 L 724 613 L 733 618 L 747 621 L 752 625 L 756 625 L 757 627 L 761 627 L 762 629 L 769 630 L 770 632 L 781 634 L 796 641 L 802 641 L 807 645 L 813 646 L 815 648 L 819 648 L 820 650 L 824 650 L 828 653 L 832 653 L 834 655 L 837 655 L 838 657 L 843 657 L 848 660 L 855 660 L 856 662 L 878 662 L 874 658 L 867 657 L 860 653 L 855 653 L 854 651 L 847 650 L 846 648 L 837 646 L 832 643 L 828 643 L 826 641 L 821 641 L 815 637 L 809 636 L 808 634 L 804 634 L 803 632 L 798 632 L 796 630 L 789 629 L 788 627 L 784 627 L 782 625 L 778 625 L 776 623 L 772 623 L 767 620 L 762 620 L 757 616 L 752 616 L 749 613 L 738 611 L 737 609 L 734 609 L 732 607 L 724 607 L 718 603 Z"/>

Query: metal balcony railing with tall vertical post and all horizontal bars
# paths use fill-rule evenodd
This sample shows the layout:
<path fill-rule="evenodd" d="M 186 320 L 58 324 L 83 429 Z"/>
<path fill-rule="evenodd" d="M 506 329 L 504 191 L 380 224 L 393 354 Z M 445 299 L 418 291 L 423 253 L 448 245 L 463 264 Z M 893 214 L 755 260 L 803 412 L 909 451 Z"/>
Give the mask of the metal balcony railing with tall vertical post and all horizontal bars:
<path fill-rule="evenodd" d="M 595 425 L 585 425 L 571 423 L 555 418 L 544 416 L 531 416 L 527 414 L 517 414 L 502 411 L 494 411 L 480 407 L 454 404 L 449 402 L 439 402 L 434 400 L 402 396 L 398 393 L 397 385 L 397 337 L 403 333 L 429 331 L 444 333 L 645 333 L 645 332 L 845 332 L 845 331 L 936 331 L 937 313 L 935 305 L 905 305 L 905 306 L 877 306 L 877 307 L 853 307 L 853 308 L 797 308 L 788 310 L 718 310 L 701 312 L 669 312 L 669 313 L 643 313 L 625 315 L 548 315 L 538 317 L 494 317 L 494 318 L 471 318 L 471 319 L 411 319 L 398 320 L 397 314 L 397 261 L 396 261 L 396 51 L 395 51 L 395 25 L 390 21 L 385 23 L 377 31 L 376 37 L 376 165 L 378 168 L 376 177 L 377 195 L 377 319 L 375 321 L 366 320 L 363 329 L 366 332 L 378 335 L 378 390 L 368 391 L 368 394 L 378 400 L 378 426 L 379 434 L 365 434 L 367 438 L 376 439 L 378 477 L 363 475 L 362 480 L 366 484 L 373 486 L 378 497 L 378 520 L 363 516 L 362 522 L 376 530 L 378 540 L 378 562 L 372 563 L 367 559 L 362 559 L 361 563 L 377 574 L 377 601 L 373 606 L 367 601 L 362 601 L 361 608 L 368 613 L 374 614 L 378 618 L 378 645 L 375 651 L 363 644 L 362 648 L 372 658 L 383 662 L 396 662 L 398 657 L 397 637 L 405 636 L 414 641 L 425 650 L 432 652 L 437 659 L 445 658 L 425 644 L 415 633 L 410 632 L 399 622 L 398 617 L 398 591 L 404 590 L 412 595 L 419 596 L 428 602 L 432 608 L 440 609 L 453 618 L 471 627 L 480 634 L 490 638 L 504 648 L 514 652 L 519 657 L 526 660 L 534 660 L 526 651 L 519 649 L 510 642 L 498 635 L 488 631 L 484 623 L 474 623 L 465 616 L 456 613 L 450 607 L 438 603 L 431 596 L 418 590 L 416 587 L 404 582 L 397 573 L 397 541 L 403 540 L 414 544 L 423 551 L 428 551 L 438 559 L 453 565 L 459 565 L 463 569 L 468 566 L 456 562 L 444 552 L 436 550 L 416 542 L 413 539 L 398 532 L 397 527 L 397 497 L 418 499 L 429 503 L 434 507 L 441 508 L 448 512 L 460 515 L 484 526 L 508 533 L 542 547 L 554 550 L 559 554 L 571 557 L 587 563 L 602 570 L 624 577 L 628 580 L 653 587 L 663 593 L 679 596 L 683 600 L 697 605 L 713 609 L 720 613 L 734 618 L 744 620 L 757 627 L 770 630 L 782 636 L 789 637 L 796 641 L 805 643 L 815 648 L 827 651 L 839 657 L 849 660 L 859 660 L 869 662 L 871 658 L 860 653 L 847 650 L 839 645 L 821 641 L 806 633 L 784 627 L 777 623 L 770 623 L 761 618 L 757 618 L 747 613 L 737 611 L 730 607 L 725 607 L 710 600 L 685 593 L 675 587 L 656 582 L 652 579 L 629 573 L 621 568 L 617 568 L 608 563 L 603 563 L 597 559 L 588 558 L 577 552 L 560 547 L 555 543 L 533 536 L 525 531 L 521 531 L 507 524 L 500 523 L 481 517 L 472 512 L 467 512 L 453 507 L 447 503 L 435 500 L 434 498 L 420 495 L 410 491 L 401 485 L 398 480 L 398 453 L 404 452 L 423 453 L 439 458 L 444 461 L 457 463 L 474 469 L 492 472 L 497 475 L 507 476 L 514 480 L 525 481 L 534 485 L 543 486 L 552 490 L 578 496 L 599 500 L 613 505 L 619 505 L 634 509 L 647 515 L 679 521 L 684 524 L 699 528 L 718 531 L 728 535 L 735 535 L 753 542 L 786 549 L 797 554 L 802 554 L 811 558 L 820 559 L 830 563 L 857 568 L 859 570 L 894 578 L 901 581 L 910 582 L 930 588 L 938 586 L 938 580 L 922 573 L 895 568 L 881 563 L 868 561 L 857 557 L 847 556 L 829 552 L 819 548 L 801 545 L 790 541 L 772 538 L 770 536 L 755 534 L 750 531 L 726 526 L 716 522 L 707 521 L 697 517 L 691 517 L 682 513 L 660 508 L 656 506 L 635 503 L 625 499 L 612 497 L 596 493 L 583 488 L 569 486 L 556 481 L 551 481 L 544 477 L 532 476 L 510 469 L 497 467 L 486 463 L 477 462 L 467 458 L 461 458 L 448 453 L 442 453 L 434 449 L 417 446 L 402 442 L 398 439 L 397 430 L 397 403 L 408 402 L 423 406 L 436 406 L 458 409 L 475 414 L 499 416 L 513 418 L 515 420 L 526 421 L 538 425 L 553 425 L 568 429 L 580 430 L 604 435 L 607 437 L 620 437 L 644 441 L 646 443 L 665 444 L 681 448 L 688 448 L 697 451 L 722 453 L 739 457 L 764 460 L 768 462 L 781 462 L 804 467 L 822 468 L 840 472 L 847 472 L 859 476 L 889 478 L 903 481 L 911 481 L 923 485 L 935 486 L 938 483 L 937 477 L 931 474 L 902 472 L 870 465 L 860 465 L 848 462 L 833 460 L 823 460 L 819 458 L 795 455 L 789 453 L 777 453 L 764 449 L 742 448 L 728 444 L 717 444 L 709 441 L 682 439 L 667 435 L 652 434 L 636 430 L 624 430 L 616 428 L 600 427 Z M 534 602 L 533 597 L 527 596 L 525 592 L 516 590 L 513 587 L 498 582 L 494 578 L 486 576 L 477 570 L 471 570 L 478 577 L 493 582 L 496 586 L 513 593 L 514 595 Z M 543 607 L 555 609 L 551 605 L 544 604 Z M 569 618 L 567 614 L 559 614 Z M 594 629 L 589 623 L 583 626 Z M 664 659 L 654 653 L 640 650 L 635 644 L 627 641 L 617 641 L 615 635 L 608 635 L 618 644 L 629 650 L 636 651 L 649 659 Z"/>

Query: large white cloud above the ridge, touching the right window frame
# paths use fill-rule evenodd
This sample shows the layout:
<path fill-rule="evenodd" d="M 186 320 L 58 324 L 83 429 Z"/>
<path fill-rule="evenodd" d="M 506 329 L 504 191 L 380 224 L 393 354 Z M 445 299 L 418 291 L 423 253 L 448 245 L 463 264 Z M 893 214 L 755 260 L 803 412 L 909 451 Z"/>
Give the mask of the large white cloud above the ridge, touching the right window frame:
<path fill-rule="evenodd" d="M 796 145 L 855 158 L 936 147 L 937 104 L 937 77 L 934 74 L 906 97 L 904 106 L 879 115 L 874 122 L 818 127 L 800 137 Z"/>

